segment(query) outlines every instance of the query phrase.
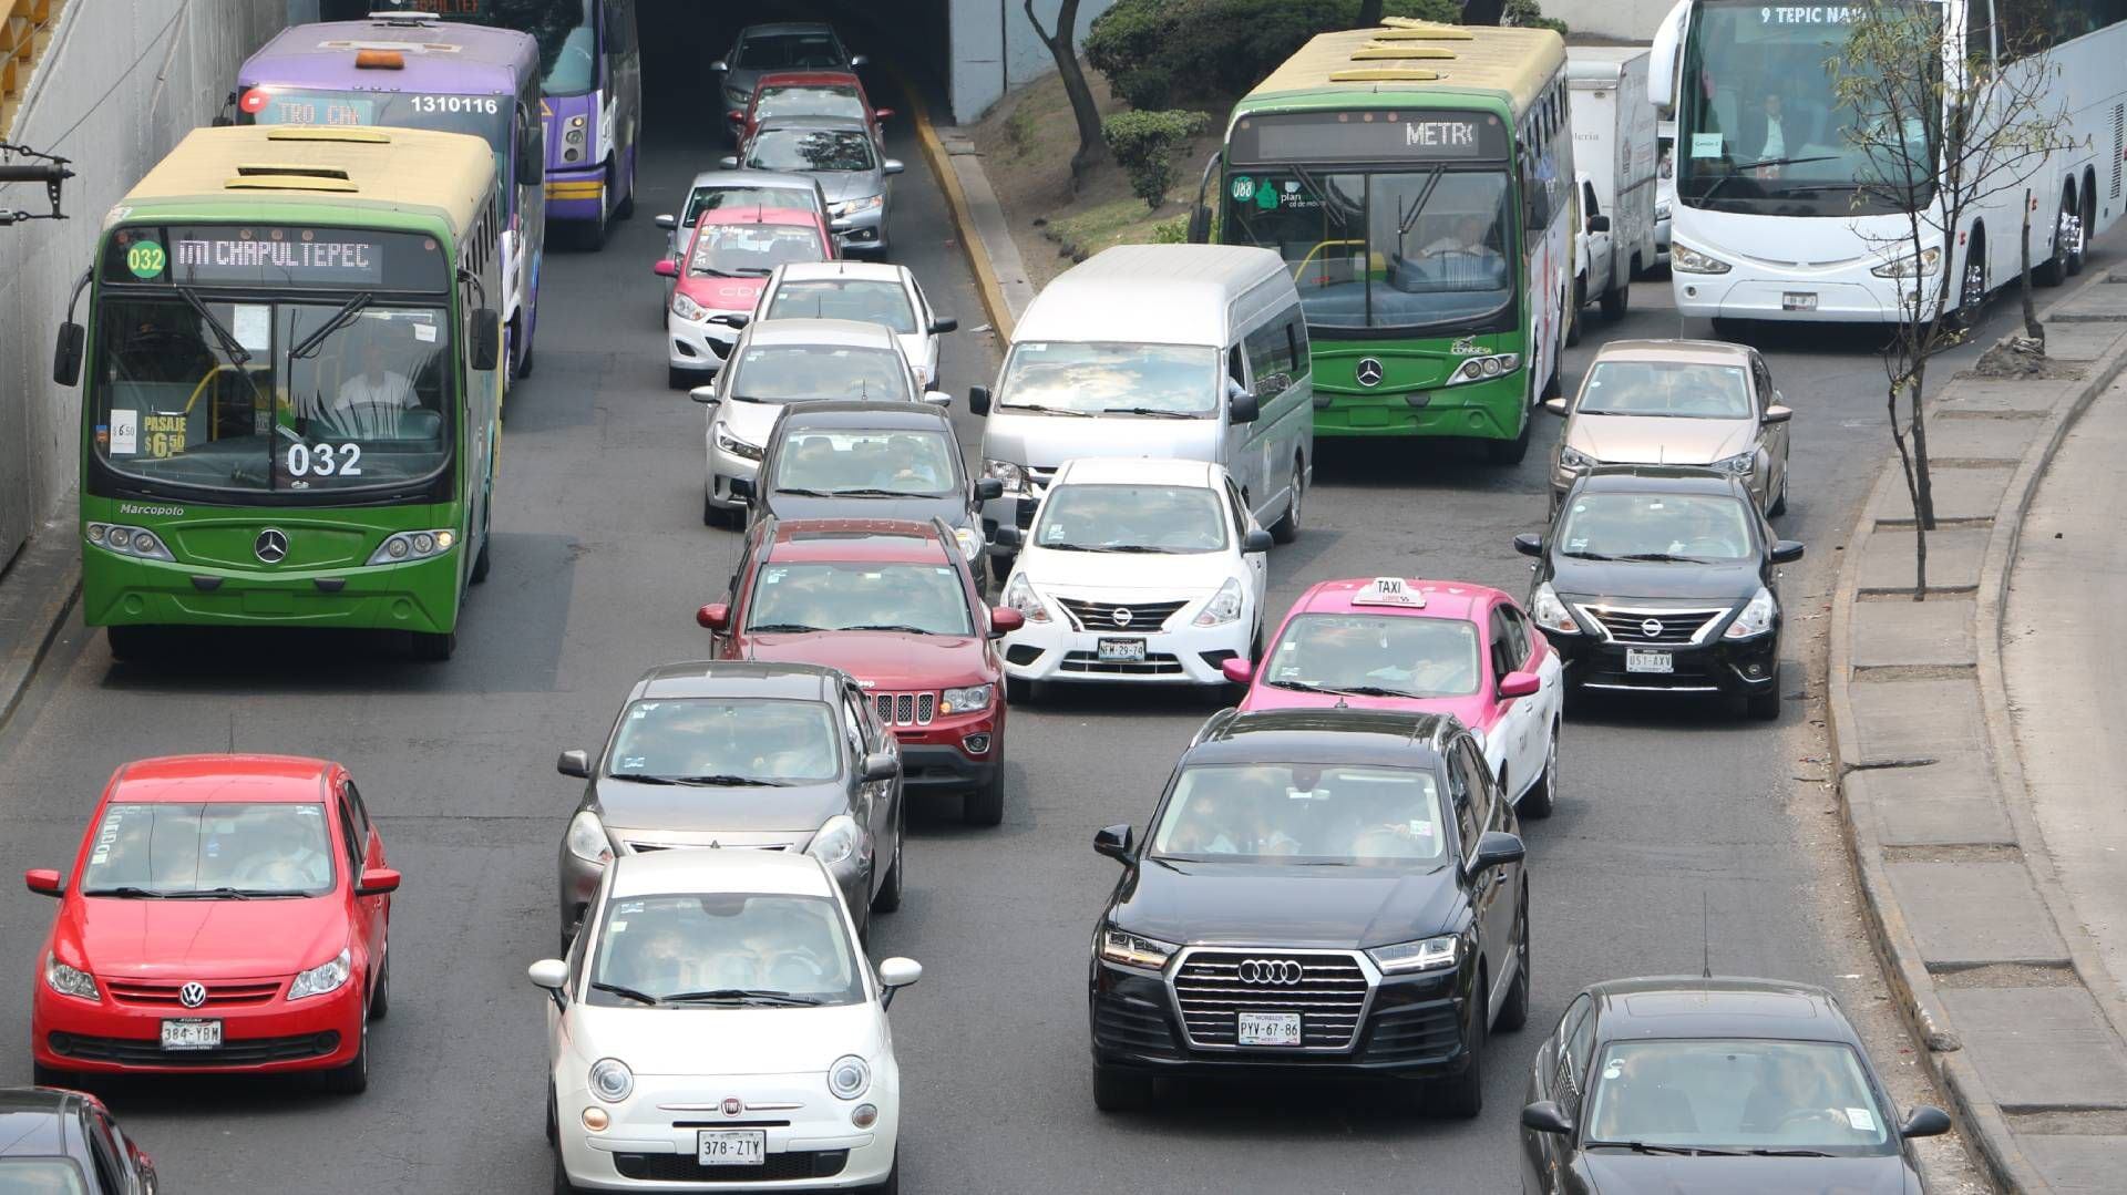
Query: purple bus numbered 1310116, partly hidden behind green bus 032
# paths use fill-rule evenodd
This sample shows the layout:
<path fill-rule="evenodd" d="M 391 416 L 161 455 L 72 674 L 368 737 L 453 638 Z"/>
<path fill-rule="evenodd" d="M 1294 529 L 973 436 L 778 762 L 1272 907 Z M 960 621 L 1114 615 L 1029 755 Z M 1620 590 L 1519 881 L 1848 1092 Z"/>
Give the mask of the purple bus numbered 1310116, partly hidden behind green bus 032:
<path fill-rule="evenodd" d="M 236 121 L 385 125 L 479 136 L 496 153 L 504 211 L 496 228 L 504 359 L 532 372 L 538 276 L 547 251 L 547 174 L 538 45 L 513 30 L 442 26 L 415 13 L 294 26 L 236 72 Z"/>

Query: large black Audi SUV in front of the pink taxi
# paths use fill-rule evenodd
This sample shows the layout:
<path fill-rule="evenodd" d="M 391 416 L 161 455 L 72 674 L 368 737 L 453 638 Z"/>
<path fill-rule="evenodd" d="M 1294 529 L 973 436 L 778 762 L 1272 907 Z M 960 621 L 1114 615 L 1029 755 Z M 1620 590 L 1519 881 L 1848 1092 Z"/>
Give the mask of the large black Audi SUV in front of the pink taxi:
<path fill-rule="evenodd" d="M 1442 714 L 1212 714 L 1093 929 L 1093 1101 L 1157 1076 L 1431 1080 L 1476 1116 L 1491 1027 L 1529 1014 L 1512 806 Z M 1406 1091 L 1408 1091 L 1406 1089 Z"/>

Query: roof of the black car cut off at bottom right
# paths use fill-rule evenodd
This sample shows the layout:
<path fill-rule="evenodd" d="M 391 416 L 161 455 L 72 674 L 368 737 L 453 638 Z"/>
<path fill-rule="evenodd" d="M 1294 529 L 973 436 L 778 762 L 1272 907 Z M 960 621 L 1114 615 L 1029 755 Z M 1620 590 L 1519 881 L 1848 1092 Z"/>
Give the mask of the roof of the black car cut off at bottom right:
<path fill-rule="evenodd" d="M 1587 989 L 1617 1038 L 1795 1038 L 1861 1046 L 1829 991 L 1748 976 L 1640 976 Z"/>

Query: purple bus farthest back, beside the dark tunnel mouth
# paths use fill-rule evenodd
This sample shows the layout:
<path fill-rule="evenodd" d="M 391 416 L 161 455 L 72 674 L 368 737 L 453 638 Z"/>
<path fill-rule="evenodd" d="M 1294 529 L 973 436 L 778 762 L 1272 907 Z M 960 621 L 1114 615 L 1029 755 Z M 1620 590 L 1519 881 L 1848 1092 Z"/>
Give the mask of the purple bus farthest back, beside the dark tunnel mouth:
<path fill-rule="evenodd" d="M 596 249 L 606 223 L 636 211 L 642 49 L 636 0 L 372 0 L 538 38 L 547 119 L 547 219 L 570 221 Z"/>

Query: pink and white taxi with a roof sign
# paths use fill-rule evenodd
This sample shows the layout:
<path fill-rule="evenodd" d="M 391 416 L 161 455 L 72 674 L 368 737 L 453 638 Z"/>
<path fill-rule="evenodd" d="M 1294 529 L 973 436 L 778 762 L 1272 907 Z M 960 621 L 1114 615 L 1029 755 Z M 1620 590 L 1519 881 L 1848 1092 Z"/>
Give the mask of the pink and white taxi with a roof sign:
<path fill-rule="evenodd" d="M 1559 791 L 1559 653 L 1485 585 L 1376 576 L 1323 580 L 1287 610 L 1261 661 L 1227 659 L 1242 710 L 1455 714 L 1485 746 L 1521 817 Z"/>

